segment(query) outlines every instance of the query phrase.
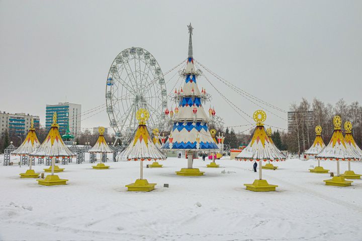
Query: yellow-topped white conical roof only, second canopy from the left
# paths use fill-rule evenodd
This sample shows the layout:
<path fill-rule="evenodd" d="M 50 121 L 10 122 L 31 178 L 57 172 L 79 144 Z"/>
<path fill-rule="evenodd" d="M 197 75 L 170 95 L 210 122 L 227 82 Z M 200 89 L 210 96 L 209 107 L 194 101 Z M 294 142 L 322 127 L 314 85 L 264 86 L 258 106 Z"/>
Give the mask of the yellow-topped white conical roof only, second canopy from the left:
<path fill-rule="evenodd" d="M 53 125 L 44 142 L 33 151 L 30 156 L 33 157 L 75 157 L 67 146 L 64 145 L 60 137 L 59 126 L 56 124 L 56 112 L 53 114 Z"/>

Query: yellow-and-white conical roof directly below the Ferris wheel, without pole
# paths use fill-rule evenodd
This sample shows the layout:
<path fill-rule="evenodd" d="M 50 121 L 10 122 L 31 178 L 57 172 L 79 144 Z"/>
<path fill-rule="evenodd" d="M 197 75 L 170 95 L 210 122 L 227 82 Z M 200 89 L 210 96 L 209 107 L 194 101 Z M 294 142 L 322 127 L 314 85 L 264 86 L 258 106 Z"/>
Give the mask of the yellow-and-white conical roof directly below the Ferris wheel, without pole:
<path fill-rule="evenodd" d="M 140 109 L 143 111 L 143 109 Z M 137 111 L 138 112 L 138 111 Z M 117 155 L 117 161 L 164 160 L 166 156 L 153 144 L 144 122 L 138 126 L 130 144 Z"/>

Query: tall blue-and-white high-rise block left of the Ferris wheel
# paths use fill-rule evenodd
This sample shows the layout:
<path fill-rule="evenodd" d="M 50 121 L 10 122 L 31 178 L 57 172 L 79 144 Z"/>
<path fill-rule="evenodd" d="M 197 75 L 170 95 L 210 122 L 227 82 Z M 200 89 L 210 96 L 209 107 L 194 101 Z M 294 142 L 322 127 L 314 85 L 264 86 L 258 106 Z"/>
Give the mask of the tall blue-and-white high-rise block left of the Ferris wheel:
<path fill-rule="evenodd" d="M 65 134 L 69 125 L 69 131 L 73 136 L 81 133 L 80 113 L 81 105 L 69 102 L 58 104 L 47 104 L 45 113 L 45 127 L 49 129 L 53 123 L 53 113 L 57 113 L 57 123 L 60 134 Z"/>

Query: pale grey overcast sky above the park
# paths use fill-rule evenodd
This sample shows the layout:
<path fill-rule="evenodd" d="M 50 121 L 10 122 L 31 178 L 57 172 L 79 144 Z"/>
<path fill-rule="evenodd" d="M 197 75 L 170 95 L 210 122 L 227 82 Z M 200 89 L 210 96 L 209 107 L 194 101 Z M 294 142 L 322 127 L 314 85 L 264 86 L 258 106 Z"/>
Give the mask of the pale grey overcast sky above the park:
<path fill-rule="evenodd" d="M 2 0 L 0 110 L 40 115 L 45 124 L 46 104 L 101 105 L 119 52 L 143 47 L 165 73 L 187 57 L 190 22 L 195 59 L 260 99 L 285 110 L 302 97 L 360 101 L 361 13 L 362 1 Z M 208 77 L 244 112 L 259 108 Z M 247 124 L 205 79 L 198 84 L 226 126 Z M 266 124 L 287 127 L 266 113 Z M 107 127 L 109 118 L 103 111 L 81 125 Z"/>

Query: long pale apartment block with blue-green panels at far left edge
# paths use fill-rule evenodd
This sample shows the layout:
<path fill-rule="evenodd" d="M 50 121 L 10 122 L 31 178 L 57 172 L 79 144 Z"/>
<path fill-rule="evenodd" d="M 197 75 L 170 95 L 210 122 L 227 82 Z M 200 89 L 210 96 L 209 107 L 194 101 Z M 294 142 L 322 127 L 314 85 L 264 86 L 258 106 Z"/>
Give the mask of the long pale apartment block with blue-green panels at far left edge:
<path fill-rule="evenodd" d="M 39 128 L 39 116 L 26 113 L 7 113 L 0 111 L 0 136 L 6 131 L 15 135 L 24 136 L 30 129 L 31 120 L 34 121 L 34 128 Z"/>

